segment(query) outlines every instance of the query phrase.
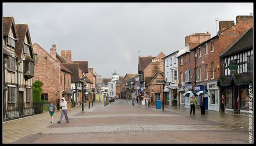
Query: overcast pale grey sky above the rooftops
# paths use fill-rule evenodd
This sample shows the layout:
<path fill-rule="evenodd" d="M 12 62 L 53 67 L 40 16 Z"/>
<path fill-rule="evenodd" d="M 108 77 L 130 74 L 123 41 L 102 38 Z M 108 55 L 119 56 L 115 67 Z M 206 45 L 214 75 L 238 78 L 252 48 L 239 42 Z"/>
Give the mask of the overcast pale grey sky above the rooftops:
<path fill-rule="evenodd" d="M 140 56 L 166 56 L 185 46 L 185 36 L 216 34 L 215 18 L 250 15 L 253 3 L 3 3 L 3 16 L 28 24 L 32 43 L 47 52 L 71 50 L 72 61 L 110 78 L 137 73 Z M 218 31 L 218 26 L 217 26 Z"/>

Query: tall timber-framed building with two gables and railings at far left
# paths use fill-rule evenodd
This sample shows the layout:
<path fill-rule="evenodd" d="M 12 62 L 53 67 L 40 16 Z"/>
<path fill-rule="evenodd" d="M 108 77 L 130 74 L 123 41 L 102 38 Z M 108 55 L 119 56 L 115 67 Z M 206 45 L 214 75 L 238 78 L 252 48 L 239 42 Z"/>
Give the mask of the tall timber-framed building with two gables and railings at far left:
<path fill-rule="evenodd" d="M 27 24 L 3 17 L 3 109 L 4 120 L 33 114 L 32 42 Z"/>

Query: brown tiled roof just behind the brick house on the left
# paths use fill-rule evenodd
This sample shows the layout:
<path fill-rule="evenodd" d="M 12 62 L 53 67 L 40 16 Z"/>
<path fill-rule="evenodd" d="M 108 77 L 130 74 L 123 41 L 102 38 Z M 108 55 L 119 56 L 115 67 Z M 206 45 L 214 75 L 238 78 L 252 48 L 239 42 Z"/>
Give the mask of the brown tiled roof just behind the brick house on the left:
<path fill-rule="evenodd" d="M 71 83 L 80 82 L 79 77 L 79 66 L 77 63 L 62 63 L 64 67 L 66 67 L 71 73 Z"/>

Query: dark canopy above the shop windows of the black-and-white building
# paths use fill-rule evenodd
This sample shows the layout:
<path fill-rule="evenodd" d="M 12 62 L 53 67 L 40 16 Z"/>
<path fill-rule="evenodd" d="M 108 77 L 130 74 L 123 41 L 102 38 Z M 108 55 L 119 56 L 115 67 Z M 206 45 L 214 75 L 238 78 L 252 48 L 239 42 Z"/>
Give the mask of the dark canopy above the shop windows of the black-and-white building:
<path fill-rule="evenodd" d="M 222 87 L 228 87 L 234 83 L 235 85 L 253 84 L 253 75 L 250 73 L 222 75 L 219 77 L 219 83 Z"/>

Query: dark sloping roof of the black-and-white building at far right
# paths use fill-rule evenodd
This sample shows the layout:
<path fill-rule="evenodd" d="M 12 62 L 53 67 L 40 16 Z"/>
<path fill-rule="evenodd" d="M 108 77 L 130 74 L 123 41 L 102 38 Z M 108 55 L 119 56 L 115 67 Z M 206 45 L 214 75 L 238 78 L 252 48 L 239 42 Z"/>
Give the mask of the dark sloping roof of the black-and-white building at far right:
<path fill-rule="evenodd" d="M 248 29 L 232 46 L 220 54 L 220 58 L 247 51 L 248 49 L 253 49 L 253 28 Z"/>

